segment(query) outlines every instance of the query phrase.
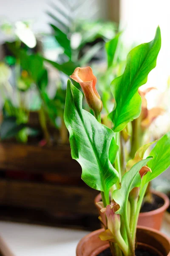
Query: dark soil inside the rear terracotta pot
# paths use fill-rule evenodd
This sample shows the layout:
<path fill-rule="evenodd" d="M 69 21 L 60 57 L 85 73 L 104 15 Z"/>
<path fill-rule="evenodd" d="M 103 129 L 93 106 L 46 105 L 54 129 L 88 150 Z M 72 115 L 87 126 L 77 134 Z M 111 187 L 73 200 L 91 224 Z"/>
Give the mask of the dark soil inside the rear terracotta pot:
<path fill-rule="evenodd" d="M 150 212 L 159 209 L 164 204 L 164 199 L 158 195 L 152 194 L 153 202 L 145 202 L 140 210 L 140 212 Z"/>

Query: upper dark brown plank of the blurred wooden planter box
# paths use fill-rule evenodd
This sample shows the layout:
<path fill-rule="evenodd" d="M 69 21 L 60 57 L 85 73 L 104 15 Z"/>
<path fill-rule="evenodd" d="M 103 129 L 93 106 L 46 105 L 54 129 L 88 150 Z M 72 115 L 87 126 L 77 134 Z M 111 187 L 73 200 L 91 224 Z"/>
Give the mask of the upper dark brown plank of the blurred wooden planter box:
<path fill-rule="evenodd" d="M 67 177 L 80 177 L 81 167 L 71 158 L 70 145 L 40 147 L 0 143 L 0 169 L 35 173 L 57 172 Z"/>

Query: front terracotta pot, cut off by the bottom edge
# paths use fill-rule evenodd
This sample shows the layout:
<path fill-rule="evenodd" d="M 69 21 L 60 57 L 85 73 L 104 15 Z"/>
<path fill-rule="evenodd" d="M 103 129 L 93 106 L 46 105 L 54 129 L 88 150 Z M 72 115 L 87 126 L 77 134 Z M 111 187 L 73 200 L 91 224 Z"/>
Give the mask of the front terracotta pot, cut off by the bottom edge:
<path fill-rule="evenodd" d="M 99 239 L 99 234 L 103 230 L 104 229 L 96 230 L 83 237 L 77 245 L 76 255 L 97 256 L 108 248 L 108 241 L 101 241 Z M 170 256 L 170 240 L 160 231 L 138 226 L 136 239 L 138 241 L 137 248 L 146 249 L 158 256 Z"/>

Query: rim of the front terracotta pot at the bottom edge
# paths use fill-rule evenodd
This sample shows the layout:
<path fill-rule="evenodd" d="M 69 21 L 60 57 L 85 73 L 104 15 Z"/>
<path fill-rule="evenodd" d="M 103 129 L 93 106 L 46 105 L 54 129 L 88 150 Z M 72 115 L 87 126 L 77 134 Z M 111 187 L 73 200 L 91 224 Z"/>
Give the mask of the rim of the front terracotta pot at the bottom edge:
<path fill-rule="evenodd" d="M 153 228 L 144 227 L 144 226 L 137 226 L 137 229 L 138 229 L 138 230 L 147 230 L 147 231 L 150 231 L 150 232 L 152 232 L 152 233 L 156 233 L 156 234 L 158 234 L 158 235 L 161 235 L 161 236 L 162 236 L 164 239 L 166 239 L 167 242 L 170 244 L 170 239 L 169 239 L 169 237 L 166 236 L 164 233 L 160 232 L 159 230 L 155 230 L 155 229 L 153 229 Z M 95 230 L 95 231 L 89 233 L 88 235 L 84 236 L 84 237 L 79 241 L 79 243 L 77 244 L 76 255 L 79 255 L 78 253 L 79 253 L 79 251 L 81 250 L 81 244 L 82 244 L 83 241 L 85 241 L 85 240 L 88 239 L 89 237 L 93 236 L 93 234 L 94 234 L 94 235 L 97 235 L 97 234 L 101 233 L 101 232 L 104 231 L 104 230 L 105 230 L 104 228 L 101 228 L 101 229 Z M 104 247 L 104 246 L 106 246 L 106 245 L 103 245 L 103 246 L 101 246 L 101 247 Z M 169 254 L 170 254 L 170 251 L 169 251 L 168 255 L 169 255 Z M 93 255 L 93 254 L 92 254 L 92 255 Z"/>

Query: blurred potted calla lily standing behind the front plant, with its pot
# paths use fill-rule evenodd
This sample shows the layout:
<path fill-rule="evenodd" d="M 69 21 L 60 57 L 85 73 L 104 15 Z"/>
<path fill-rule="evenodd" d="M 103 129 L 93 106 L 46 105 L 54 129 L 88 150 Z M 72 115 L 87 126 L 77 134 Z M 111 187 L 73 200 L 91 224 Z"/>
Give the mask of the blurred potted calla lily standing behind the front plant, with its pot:
<path fill-rule="evenodd" d="M 120 35 L 120 33 L 117 34 L 115 38 L 105 44 L 106 55 L 108 59 L 107 69 L 104 70 L 104 72 L 100 71 L 100 74 L 98 74 L 99 92 L 103 103 L 102 123 L 110 128 L 111 122 L 109 122 L 109 120 L 107 119 L 107 114 L 109 114 L 112 99 L 111 92 L 109 90 L 109 81 L 113 80 L 113 78 L 116 76 L 115 73 L 119 74 L 121 72 L 122 64 L 124 64 L 124 62 L 119 60 L 119 55 L 116 55 L 115 58 L 115 52 L 117 51 Z M 165 113 L 165 109 L 160 107 L 158 104 L 156 105 L 156 107 L 153 107 L 151 109 L 147 108 L 147 93 L 152 93 L 154 91 L 156 91 L 155 87 L 149 87 L 145 90 L 139 88 L 138 92 L 142 99 L 140 115 L 132 122 L 129 122 L 127 126 L 122 131 L 120 131 L 120 169 L 122 175 L 125 173 L 125 171 L 129 169 L 129 164 L 127 163 L 128 160 L 134 158 L 135 163 L 135 159 L 139 158 L 139 155 L 143 150 L 142 145 L 148 144 L 148 147 L 152 145 L 152 143 L 149 144 L 151 137 L 153 137 L 153 131 L 150 131 L 150 126 L 153 124 L 153 121 L 158 116 Z M 105 215 L 100 212 L 101 201 L 102 196 L 99 193 L 96 196 L 94 202 L 97 209 L 99 210 L 102 220 L 105 222 Z M 169 199 L 167 198 L 167 195 L 150 189 L 149 184 L 142 203 L 138 224 L 160 230 L 164 212 L 166 211 L 168 205 Z"/>

